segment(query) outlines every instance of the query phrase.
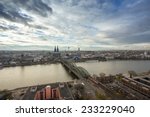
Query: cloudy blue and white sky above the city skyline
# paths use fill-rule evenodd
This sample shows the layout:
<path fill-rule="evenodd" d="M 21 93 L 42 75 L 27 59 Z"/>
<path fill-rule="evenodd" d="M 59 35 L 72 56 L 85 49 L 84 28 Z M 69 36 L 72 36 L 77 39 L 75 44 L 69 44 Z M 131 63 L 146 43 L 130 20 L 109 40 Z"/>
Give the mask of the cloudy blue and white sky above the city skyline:
<path fill-rule="evenodd" d="M 1 0 L 0 50 L 150 50 L 150 0 Z"/>

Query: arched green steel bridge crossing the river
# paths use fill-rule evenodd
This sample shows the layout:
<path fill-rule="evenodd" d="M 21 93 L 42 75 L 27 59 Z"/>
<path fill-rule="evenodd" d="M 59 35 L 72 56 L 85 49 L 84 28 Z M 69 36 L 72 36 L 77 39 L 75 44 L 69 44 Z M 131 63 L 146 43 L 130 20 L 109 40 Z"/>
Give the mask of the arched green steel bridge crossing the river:
<path fill-rule="evenodd" d="M 72 62 L 69 62 L 69 61 L 61 60 L 60 62 L 65 67 L 65 69 L 69 73 L 71 73 L 72 75 L 74 75 L 77 79 L 83 79 L 83 78 L 90 77 L 90 74 L 84 68 L 78 67 L 78 66 L 76 66 L 76 64 L 74 64 Z"/>

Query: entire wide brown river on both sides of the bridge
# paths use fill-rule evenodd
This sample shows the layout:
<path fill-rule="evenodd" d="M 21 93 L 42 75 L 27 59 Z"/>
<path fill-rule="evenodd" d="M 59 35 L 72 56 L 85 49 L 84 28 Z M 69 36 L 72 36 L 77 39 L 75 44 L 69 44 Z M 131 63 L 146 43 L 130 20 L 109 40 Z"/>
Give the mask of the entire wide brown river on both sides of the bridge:
<path fill-rule="evenodd" d="M 136 72 L 150 70 L 150 61 L 87 61 L 76 64 L 97 75 L 101 72 L 117 74 L 126 73 L 128 70 Z M 72 77 L 61 64 L 18 66 L 0 70 L 0 90 L 70 80 Z"/>

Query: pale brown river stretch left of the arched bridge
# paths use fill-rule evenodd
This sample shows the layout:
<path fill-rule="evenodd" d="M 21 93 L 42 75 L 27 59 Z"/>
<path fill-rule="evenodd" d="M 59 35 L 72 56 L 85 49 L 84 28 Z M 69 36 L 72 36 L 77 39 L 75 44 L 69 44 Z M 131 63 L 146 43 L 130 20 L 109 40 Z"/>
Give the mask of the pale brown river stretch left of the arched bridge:
<path fill-rule="evenodd" d="M 72 77 L 61 64 L 18 66 L 0 70 L 0 90 L 70 80 Z"/>

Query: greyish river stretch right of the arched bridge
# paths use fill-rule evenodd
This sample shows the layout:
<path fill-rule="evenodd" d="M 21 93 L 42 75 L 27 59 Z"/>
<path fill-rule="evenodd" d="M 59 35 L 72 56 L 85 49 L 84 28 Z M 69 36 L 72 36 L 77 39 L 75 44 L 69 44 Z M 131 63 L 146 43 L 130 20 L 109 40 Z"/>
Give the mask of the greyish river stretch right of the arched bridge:
<path fill-rule="evenodd" d="M 150 61 L 144 60 L 128 60 L 128 61 L 87 61 L 77 63 L 77 66 L 85 68 L 90 74 L 105 73 L 105 74 L 118 74 L 127 73 L 130 70 L 135 72 L 145 72 L 150 70 Z"/>

